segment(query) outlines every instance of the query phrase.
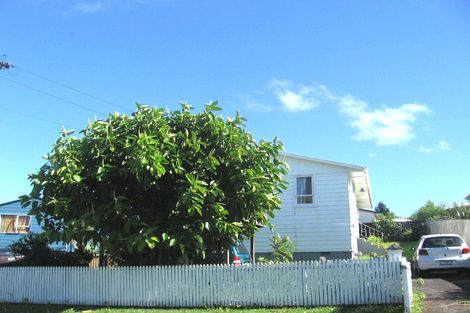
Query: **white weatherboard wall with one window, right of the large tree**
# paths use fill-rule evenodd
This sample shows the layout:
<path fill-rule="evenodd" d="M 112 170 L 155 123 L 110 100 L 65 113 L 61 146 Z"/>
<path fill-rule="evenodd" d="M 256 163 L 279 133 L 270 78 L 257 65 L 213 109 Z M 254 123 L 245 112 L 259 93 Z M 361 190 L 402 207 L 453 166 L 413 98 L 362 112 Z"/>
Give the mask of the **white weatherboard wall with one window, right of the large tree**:
<path fill-rule="evenodd" d="M 351 257 L 357 251 L 351 230 L 349 172 L 346 168 L 287 157 L 288 189 L 281 194 L 282 208 L 275 212 L 273 231 L 268 228 L 256 234 L 256 252 L 272 252 L 270 238 L 279 233 L 294 242 L 295 258 L 316 259 Z M 297 204 L 296 177 L 313 177 L 313 203 Z M 357 214 L 357 213 L 356 213 Z M 354 241 L 357 236 L 354 236 Z"/>

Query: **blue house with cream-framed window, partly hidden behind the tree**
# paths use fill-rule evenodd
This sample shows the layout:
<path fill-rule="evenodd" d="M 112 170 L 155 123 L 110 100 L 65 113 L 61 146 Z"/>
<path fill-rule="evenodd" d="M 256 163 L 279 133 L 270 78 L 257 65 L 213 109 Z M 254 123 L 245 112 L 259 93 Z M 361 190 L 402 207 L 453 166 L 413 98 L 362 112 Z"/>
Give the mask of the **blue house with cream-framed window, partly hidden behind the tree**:
<path fill-rule="evenodd" d="M 30 209 L 31 207 L 23 208 L 20 200 L 0 204 L 0 251 L 7 250 L 8 246 L 25 234 L 43 231 L 36 217 L 28 214 Z M 64 244 L 53 244 L 50 247 L 66 249 Z"/>

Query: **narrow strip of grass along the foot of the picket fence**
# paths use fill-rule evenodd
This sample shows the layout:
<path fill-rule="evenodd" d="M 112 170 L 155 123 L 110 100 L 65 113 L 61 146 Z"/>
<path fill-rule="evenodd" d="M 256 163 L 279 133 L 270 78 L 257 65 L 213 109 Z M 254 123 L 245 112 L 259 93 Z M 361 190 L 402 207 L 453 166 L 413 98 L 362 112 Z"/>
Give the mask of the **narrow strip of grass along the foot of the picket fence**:
<path fill-rule="evenodd" d="M 359 305 L 315 308 L 204 308 L 204 309 L 142 309 L 99 308 L 85 306 L 0 304 L 1 313 L 402 313 L 402 305 Z M 418 313 L 419 311 L 416 311 Z"/>

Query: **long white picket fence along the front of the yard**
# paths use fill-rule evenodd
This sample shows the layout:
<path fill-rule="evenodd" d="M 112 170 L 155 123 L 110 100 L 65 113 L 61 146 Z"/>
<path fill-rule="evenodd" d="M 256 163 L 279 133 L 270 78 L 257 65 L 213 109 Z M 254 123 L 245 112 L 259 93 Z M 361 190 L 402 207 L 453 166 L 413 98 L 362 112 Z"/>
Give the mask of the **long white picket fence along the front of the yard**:
<path fill-rule="evenodd" d="M 254 266 L 0 267 L 0 302 L 206 307 L 405 303 L 400 260 Z M 411 283 L 411 280 L 409 281 Z M 408 305 L 409 306 L 409 305 Z"/>

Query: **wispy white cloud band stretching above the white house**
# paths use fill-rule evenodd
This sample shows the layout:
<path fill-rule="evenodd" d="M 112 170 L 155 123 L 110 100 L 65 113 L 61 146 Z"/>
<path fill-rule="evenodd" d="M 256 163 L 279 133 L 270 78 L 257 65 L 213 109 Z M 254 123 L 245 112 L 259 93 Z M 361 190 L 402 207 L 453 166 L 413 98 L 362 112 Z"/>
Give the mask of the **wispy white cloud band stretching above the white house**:
<path fill-rule="evenodd" d="M 372 141 L 379 146 L 408 143 L 416 137 L 415 124 L 418 119 L 431 113 L 426 104 L 416 102 L 396 107 L 373 108 L 366 101 L 350 94 L 334 94 L 327 86 L 319 83 L 300 85 L 288 80 L 273 79 L 268 88 L 281 104 L 280 107 L 264 105 L 256 100 L 265 96 L 266 90 L 243 99 L 245 106 L 263 111 L 282 108 L 289 112 L 307 112 L 325 103 L 334 104 L 350 127 L 356 130 L 355 140 Z"/>

